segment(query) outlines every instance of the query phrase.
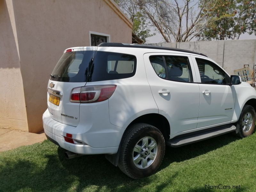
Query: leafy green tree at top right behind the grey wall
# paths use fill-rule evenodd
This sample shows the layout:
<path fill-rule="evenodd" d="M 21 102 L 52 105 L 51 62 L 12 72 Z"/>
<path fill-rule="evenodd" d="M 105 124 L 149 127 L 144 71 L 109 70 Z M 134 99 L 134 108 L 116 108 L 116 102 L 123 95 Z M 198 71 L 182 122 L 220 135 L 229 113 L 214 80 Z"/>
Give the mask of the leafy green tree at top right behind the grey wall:
<path fill-rule="evenodd" d="M 255 0 L 217 0 L 208 12 L 208 17 L 216 18 L 198 34 L 199 40 L 239 39 L 248 32 L 255 33 Z"/>

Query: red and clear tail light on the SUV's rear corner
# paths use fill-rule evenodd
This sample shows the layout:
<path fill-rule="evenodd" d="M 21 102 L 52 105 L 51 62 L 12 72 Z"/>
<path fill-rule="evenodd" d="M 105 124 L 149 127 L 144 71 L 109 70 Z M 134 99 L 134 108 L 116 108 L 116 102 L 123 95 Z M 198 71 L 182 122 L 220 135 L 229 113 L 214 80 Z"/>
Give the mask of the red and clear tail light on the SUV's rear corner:
<path fill-rule="evenodd" d="M 70 94 L 70 102 L 73 103 L 95 103 L 105 101 L 111 97 L 116 90 L 116 85 L 92 85 L 76 87 Z"/>

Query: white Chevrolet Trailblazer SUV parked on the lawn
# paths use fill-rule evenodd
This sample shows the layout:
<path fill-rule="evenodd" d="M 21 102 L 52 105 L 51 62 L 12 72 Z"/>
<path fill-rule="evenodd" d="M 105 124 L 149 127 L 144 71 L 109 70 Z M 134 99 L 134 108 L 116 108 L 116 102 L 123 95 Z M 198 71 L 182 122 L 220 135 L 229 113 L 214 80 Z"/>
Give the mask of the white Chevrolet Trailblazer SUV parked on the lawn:
<path fill-rule="evenodd" d="M 256 91 L 207 56 L 102 43 L 64 51 L 48 83 L 44 132 L 68 158 L 106 154 L 128 176 L 156 172 L 165 145 L 253 133 Z"/>

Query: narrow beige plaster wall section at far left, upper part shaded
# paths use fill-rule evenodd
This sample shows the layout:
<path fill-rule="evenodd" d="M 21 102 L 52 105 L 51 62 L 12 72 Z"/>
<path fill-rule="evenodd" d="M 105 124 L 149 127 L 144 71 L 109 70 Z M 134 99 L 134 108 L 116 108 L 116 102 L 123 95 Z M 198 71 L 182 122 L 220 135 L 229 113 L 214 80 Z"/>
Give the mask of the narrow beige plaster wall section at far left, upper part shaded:
<path fill-rule="evenodd" d="M 28 131 L 12 4 L 0 0 L 0 128 Z"/>

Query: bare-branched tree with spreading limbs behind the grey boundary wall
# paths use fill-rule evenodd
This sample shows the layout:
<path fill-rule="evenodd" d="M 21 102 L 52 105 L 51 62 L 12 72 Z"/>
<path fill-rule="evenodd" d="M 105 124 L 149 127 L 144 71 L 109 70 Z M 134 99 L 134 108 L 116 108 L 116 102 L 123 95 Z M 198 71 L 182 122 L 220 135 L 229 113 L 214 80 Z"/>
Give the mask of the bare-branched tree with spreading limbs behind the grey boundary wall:
<path fill-rule="evenodd" d="M 212 21 L 208 12 L 214 7 L 214 0 L 183 0 L 182 3 L 178 3 L 178 0 L 134 2 L 165 42 L 172 42 L 172 39 L 176 42 L 190 41 Z"/>

